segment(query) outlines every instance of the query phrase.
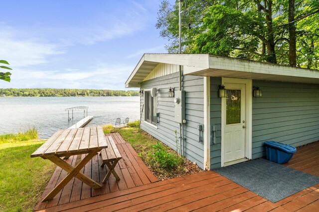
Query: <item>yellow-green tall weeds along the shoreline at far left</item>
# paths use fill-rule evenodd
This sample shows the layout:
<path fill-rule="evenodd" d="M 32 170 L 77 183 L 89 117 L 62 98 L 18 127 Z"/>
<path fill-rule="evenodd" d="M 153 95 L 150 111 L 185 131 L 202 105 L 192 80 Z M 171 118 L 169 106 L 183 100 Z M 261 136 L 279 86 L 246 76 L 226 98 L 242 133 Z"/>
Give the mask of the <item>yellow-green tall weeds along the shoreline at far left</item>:
<path fill-rule="evenodd" d="M 17 134 L 5 134 L 0 135 L 0 143 L 17 142 L 17 141 L 29 141 L 38 138 L 38 132 L 35 128 L 31 128 L 24 132 L 18 132 Z"/>

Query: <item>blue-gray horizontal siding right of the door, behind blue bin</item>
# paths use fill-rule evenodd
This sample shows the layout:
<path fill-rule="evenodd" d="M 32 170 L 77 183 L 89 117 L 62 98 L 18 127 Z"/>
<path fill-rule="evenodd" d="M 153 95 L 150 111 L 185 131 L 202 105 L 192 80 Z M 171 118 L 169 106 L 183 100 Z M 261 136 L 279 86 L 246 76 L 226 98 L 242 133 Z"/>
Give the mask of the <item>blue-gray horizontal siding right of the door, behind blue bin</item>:
<path fill-rule="evenodd" d="M 252 157 L 265 156 L 265 141 L 295 147 L 319 141 L 319 85 L 253 80 Z"/>

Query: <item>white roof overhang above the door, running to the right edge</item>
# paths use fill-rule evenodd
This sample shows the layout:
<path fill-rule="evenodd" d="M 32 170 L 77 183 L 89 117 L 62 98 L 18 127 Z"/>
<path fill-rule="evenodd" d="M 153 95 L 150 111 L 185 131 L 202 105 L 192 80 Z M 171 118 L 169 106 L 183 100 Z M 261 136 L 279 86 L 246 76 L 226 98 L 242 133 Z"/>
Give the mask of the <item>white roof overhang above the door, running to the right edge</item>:
<path fill-rule="evenodd" d="M 319 71 L 209 55 L 204 69 L 184 66 L 184 74 L 319 84 Z"/>

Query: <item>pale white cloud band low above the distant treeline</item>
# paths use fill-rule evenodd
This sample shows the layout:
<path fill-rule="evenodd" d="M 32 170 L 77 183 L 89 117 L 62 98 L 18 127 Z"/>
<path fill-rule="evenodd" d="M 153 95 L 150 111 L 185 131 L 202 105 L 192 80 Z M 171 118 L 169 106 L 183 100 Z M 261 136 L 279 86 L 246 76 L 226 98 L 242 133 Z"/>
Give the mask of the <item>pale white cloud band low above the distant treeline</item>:
<path fill-rule="evenodd" d="M 86 71 L 40 71 L 18 68 L 12 72 L 11 82 L 0 81 L 0 87 L 9 88 L 88 88 L 125 89 L 125 81 L 132 66 L 98 63 Z"/>

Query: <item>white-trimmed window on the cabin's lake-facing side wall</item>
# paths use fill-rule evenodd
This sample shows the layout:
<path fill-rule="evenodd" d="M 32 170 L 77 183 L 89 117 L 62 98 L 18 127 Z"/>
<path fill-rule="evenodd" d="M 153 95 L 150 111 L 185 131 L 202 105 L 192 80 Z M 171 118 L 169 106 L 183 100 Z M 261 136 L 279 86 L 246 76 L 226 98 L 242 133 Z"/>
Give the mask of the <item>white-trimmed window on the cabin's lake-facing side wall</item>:
<path fill-rule="evenodd" d="M 156 126 L 157 97 L 152 97 L 151 90 L 144 90 L 144 121 Z"/>

